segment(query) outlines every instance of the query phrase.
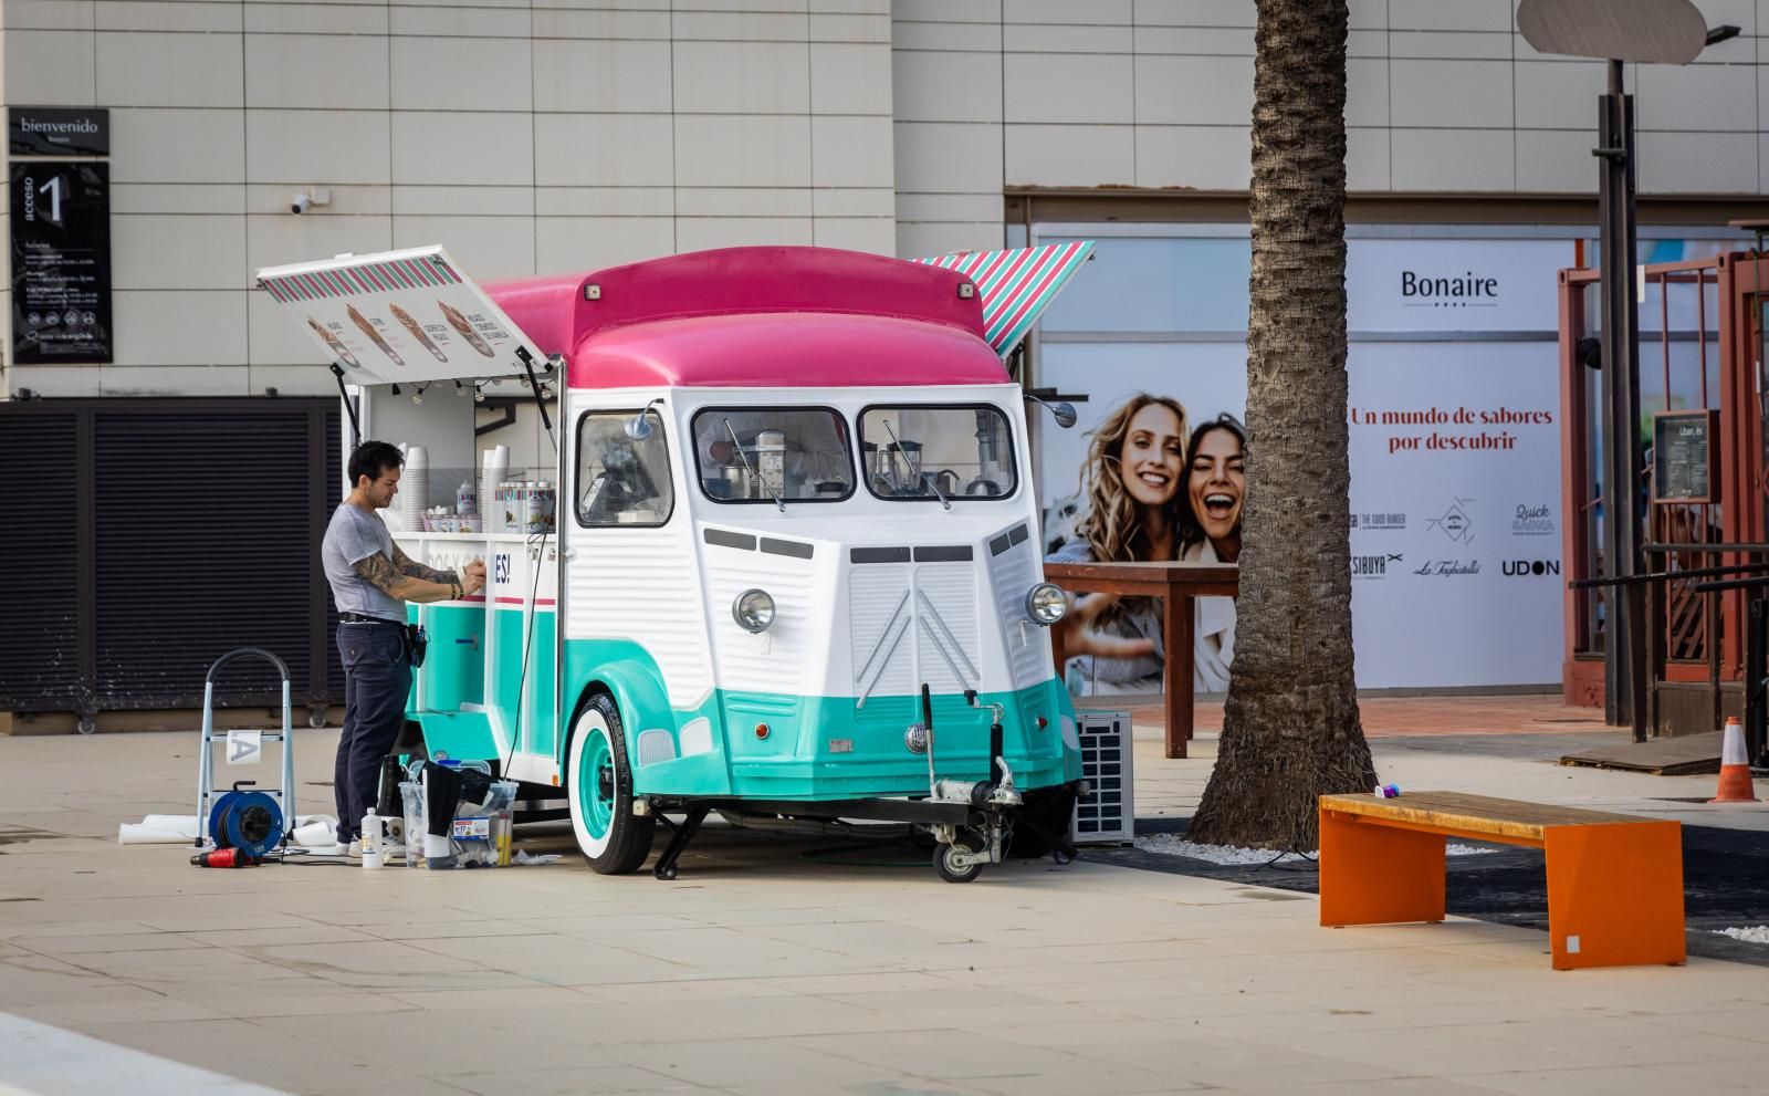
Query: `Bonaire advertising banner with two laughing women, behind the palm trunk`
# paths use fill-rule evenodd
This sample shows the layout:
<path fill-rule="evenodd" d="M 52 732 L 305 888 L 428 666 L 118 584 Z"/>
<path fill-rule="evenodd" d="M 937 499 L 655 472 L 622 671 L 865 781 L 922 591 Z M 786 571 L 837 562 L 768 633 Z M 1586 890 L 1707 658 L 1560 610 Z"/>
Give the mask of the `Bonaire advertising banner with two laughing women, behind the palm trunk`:
<path fill-rule="evenodd" d="M 1226 260 L 1237 251 L 1238 269 L 1208 278 L 1191 269 L 1189 251 Z M 1383 237 L 1352 239 L 1348 251 L 1359 685 L 1558 682 L 1555 278 L 1573 246 Z M 1047 558 L 1238 552 L 1247 351 L 1235 328 L 1245 326 L 1245 239 L 1102 239 L 1088 278 L 1045 319 L 1038 384 L 1086 397 L 1076 430 L 1040 430 Z M 1231 299 L 1237 289 L 1224 283 L 1237 278 Z M 1148 282 L 1199 283 L 1208 306 L 1137 289 Z M 1143 297 L 1146 315 L 1118 305 Z M 1196 689 L 1226 687 L 1233 620 L 1228 598 L 1199 600 Z M 1160 689 L 1143 643 L 1159 634 L 1153 618 L 1130 606 L 1090 627 L 1132 646 L 1072 641 L 1070 650 L 1102 652 L 1072 668 L 1072 683 Z"/>

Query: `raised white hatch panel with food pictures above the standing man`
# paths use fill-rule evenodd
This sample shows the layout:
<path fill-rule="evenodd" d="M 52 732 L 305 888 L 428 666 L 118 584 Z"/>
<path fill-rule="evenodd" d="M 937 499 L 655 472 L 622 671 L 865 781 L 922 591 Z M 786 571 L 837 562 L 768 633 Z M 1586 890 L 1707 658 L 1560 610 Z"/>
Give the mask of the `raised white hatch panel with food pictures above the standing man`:
<path fill-rule="evenodd" d="M 440 246 L 258 271 L 258 287 L 345 368 L 350 384 L 522 372 L 543 354 Z"/>

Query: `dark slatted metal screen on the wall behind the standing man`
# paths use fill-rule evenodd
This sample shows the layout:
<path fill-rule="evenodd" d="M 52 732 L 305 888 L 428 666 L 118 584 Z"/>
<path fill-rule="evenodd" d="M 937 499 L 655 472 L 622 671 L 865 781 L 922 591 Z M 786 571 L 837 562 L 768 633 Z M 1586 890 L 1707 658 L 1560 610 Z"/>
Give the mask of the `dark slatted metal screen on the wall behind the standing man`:
<path fill-rule="evenodd" d="M 12 540 L 44 575 L 0 629 L 0 708 L 196 706 L 235 646 L 278 653 L 297 705 L 336 703 L 318 544 L 338 430 L 322 398 L 0 404 L 0 499 L 34 515 Z M 218 683 L 278 698 L 255 662 Z"/>

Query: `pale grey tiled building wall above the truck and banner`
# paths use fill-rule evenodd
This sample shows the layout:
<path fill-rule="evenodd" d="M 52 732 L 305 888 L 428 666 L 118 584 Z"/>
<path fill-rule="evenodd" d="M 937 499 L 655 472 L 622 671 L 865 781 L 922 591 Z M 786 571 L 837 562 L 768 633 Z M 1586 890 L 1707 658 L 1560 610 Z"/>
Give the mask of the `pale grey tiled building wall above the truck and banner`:
<path fill-rule="evenodd" d="M 1769 163 L 1758 4 L 1700 7 L 1744 34 L 1629 73 L 1642 193 L 1688 198 L 1679 221 Z M 5 0 L 0 35 L 5 104 L 111 126 L 115 361 L 7 356 L 11 395 L 324 393 L 248 289 L 317 255 L 440 241 L 479 278 L 929 255 L 1045 209 L 1235 220 L 1247 181 L 1247 0 Z M 1383 220 L 1569 197 L 1548 211 L 1589 225 L 1601 83 L 1530 51 L 1512 0 L 1353 0 L 1350 188 Z"/>

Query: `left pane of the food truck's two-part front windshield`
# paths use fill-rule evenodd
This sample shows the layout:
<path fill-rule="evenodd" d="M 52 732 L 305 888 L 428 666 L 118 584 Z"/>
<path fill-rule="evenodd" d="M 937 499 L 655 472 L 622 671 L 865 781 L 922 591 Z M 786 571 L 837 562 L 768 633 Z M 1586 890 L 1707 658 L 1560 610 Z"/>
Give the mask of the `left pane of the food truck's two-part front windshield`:
<path fill-rule="evenodd" d="M 720 503 L 839 503 L 854 492 L 833 407 L 708 407 L 693 416 L 701 490 Z"/>

